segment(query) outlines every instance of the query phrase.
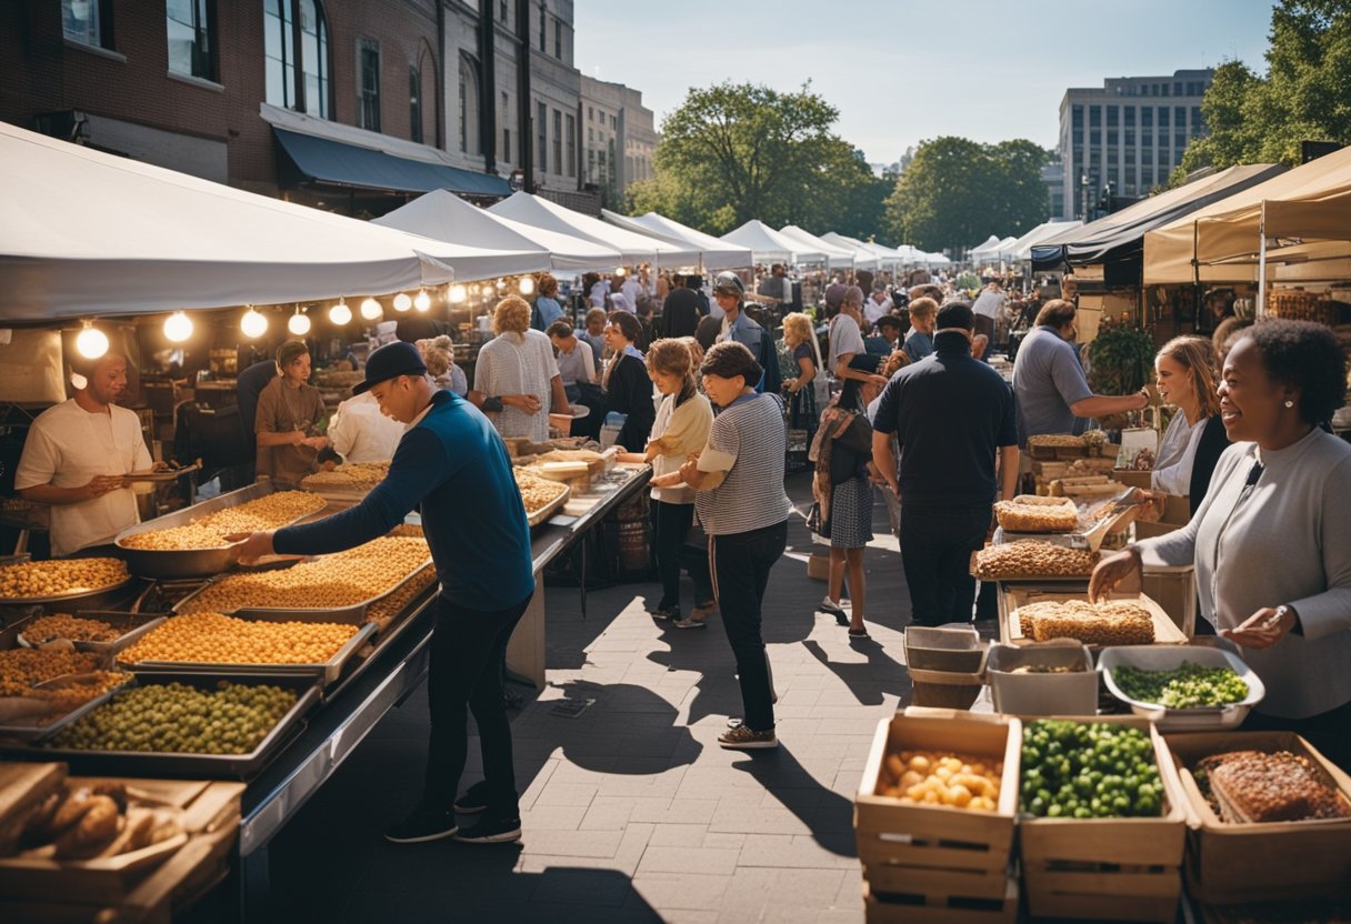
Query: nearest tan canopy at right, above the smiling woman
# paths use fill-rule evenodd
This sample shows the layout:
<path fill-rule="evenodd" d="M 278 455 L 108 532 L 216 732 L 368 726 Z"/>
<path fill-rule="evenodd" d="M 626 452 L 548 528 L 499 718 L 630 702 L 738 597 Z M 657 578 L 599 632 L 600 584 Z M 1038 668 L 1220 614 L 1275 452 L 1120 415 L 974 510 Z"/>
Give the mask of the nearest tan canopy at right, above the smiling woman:
<path fill-rule="evenodd" d="M 1193 266 L 1193 259 L 1196 265 Z M 1351 147 L 1144 235 L 1144 282 L 1351 276 Z"/>

